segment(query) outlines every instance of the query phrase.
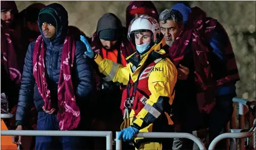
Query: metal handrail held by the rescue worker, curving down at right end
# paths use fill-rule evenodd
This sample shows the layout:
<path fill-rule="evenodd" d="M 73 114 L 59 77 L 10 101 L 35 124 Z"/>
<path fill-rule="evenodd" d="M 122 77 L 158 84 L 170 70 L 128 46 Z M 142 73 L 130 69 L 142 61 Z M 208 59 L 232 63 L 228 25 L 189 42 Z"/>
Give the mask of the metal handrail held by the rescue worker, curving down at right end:
<path fill-rule="evenodd" d="M 116 132 L 116 150 L 122 149 L 121 139 L 117 139 L 119 132 Z M 176 133 L 176 132 L 140 132 L 134 137 L 145 137 L 145 138 L 188 138 L 198 144 L 201 150 L 206 150 L 204 144 L 200 139 L 189 133 Z"/>

